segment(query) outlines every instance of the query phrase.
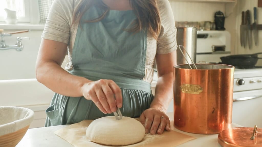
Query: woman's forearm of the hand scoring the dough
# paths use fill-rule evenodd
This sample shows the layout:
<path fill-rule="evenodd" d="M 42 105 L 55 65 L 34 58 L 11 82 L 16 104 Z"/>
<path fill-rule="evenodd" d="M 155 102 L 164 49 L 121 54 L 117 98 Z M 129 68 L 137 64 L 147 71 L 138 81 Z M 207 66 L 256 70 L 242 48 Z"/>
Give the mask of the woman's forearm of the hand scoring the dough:
<path fill-rule="evenodd" d="M 72 75 L 54 61 L 43 62 L 36 66 L 37 81 L 52 91 L 69 97 L 81 97 L 81 88 L 90 80 Z"/>

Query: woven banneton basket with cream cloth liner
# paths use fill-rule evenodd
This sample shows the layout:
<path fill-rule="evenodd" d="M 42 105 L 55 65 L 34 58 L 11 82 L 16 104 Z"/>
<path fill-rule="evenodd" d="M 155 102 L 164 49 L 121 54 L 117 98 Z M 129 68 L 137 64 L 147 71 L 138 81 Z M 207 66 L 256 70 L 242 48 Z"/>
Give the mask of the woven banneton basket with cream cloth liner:
<path fill-rule="evenodd" d="M 34 111 L 30 109 L 0 106 L 0 146 L 15 147 L 33 119 Z"/>

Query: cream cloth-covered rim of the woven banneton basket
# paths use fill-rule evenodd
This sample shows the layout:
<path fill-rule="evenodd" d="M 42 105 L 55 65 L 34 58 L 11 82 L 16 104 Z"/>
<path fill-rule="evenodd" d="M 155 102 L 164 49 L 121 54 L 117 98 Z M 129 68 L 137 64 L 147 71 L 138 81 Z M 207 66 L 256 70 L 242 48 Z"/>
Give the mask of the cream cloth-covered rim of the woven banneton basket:
<path fill-rule="evenodd" d="M 17 107 L 17 106 L 0 106 L 0 112 L 4 111 L 4 110 L 6 110 L 6 111 L 20 110 L 20 111 L 23 111 L 25 116 L 24 116 L 24 118 L 15 120 L 13 122 L 9 122 L 9 123 L 0 125 L 0 136 L 16 132 L 16 131 L 18 131 L 18 130 L 26 127 L 26 126 L 29 126 L 30 123 L 34 119 L 34 111 L 32 111 L 31 109 L 28 109 L 28 108 Z"/>

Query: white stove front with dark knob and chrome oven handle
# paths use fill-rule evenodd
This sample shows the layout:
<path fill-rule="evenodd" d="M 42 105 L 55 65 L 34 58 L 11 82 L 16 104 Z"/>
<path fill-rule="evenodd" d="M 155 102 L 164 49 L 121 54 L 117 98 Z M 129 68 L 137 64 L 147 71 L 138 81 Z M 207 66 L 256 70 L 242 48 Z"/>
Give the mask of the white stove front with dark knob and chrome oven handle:
<path fill-rule="evenodd" d="M 232 121 L 262 127 L 262 68 L 235 69 Z"/>

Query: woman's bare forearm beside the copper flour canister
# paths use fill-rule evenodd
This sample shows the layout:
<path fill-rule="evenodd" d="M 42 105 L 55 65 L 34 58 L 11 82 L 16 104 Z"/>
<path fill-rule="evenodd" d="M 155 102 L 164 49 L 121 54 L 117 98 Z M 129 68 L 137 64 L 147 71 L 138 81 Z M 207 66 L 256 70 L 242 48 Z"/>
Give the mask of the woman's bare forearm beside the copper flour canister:
<path fill-rule="evenodd" d="M 168 105 L 173 98 L 173 72 L 158 77 L 155 90 L 155 98 L 150 108 L 167 111 Z"/>

